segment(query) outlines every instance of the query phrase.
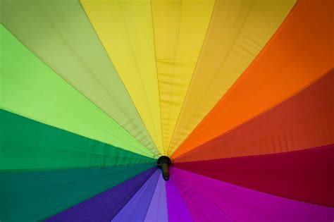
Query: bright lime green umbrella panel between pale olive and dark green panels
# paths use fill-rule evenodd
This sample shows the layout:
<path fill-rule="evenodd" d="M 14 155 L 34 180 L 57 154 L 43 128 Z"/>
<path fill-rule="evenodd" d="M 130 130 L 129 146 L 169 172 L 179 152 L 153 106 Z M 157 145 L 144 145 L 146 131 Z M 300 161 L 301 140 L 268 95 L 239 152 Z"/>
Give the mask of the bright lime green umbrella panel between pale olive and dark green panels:
<path fill-rule="evenodd" d="M 1 25 L 0 107 L 56 128 L 154 156 Z M 4 125 L 2 125 L 4 127 Z"/>

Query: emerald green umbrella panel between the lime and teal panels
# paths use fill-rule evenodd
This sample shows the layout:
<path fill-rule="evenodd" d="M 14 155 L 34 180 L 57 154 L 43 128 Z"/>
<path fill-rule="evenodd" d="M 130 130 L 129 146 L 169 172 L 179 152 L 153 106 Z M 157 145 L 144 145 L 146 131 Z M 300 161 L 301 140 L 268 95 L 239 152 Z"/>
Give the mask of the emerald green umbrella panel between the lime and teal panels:
<path fill-rule="evenodd" d="M 154 163 L 154 159 L 0 109 L 0 171 Z"/>

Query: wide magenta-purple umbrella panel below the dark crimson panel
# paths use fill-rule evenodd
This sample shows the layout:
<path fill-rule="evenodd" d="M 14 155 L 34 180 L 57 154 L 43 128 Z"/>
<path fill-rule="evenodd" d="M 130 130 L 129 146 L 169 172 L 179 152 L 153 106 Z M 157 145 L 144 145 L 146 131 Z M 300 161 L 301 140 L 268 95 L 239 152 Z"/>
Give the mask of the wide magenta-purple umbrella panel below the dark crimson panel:
<path fill-rule="evenodd" d="M 268 195 L 178 168 L 171 169 L 171 175 L 194 221 L 229 221 L 222 216 L 256 222 L 325 222 L 334 218 L 334 209 L 327 206 Z"/>

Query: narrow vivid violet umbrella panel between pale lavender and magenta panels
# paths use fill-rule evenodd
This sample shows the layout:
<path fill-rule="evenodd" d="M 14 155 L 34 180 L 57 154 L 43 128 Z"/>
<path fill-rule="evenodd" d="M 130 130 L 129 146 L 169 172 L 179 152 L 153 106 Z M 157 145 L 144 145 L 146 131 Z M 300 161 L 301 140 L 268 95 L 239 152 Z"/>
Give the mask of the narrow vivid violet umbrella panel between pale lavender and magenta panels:
<path fill-rule="evenodd" d="M 180 193 L 173 183 L 173 175 L 171 179 L 166 182 L 167 204 L 168 204 L 168 221 L 170 222 L 191 222 L 190 216 Z"/>

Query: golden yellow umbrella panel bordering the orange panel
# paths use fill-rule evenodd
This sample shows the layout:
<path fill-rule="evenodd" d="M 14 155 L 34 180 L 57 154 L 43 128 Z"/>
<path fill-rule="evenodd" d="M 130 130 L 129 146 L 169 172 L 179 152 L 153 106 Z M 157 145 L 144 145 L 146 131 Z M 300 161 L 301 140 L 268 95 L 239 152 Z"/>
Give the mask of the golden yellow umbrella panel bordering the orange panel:
<path fill-rule="evenodd" d="M 169 154 L 259 54 L 295 1 L 216 1 Z"/>

